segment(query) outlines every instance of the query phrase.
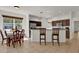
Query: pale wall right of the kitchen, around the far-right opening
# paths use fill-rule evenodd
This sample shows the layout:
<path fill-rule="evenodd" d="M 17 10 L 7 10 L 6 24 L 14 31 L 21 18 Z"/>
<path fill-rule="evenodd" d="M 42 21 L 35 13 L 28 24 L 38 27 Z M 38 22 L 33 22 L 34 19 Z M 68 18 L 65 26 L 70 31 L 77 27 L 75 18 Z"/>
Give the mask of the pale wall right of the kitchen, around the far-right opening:
<path fill-rule="evenodd" d="M 79 19 L 79 12 L 72 12 L 70 19 L 71 19 L 71 21 L 70 21 L 70 31 L 71 31 L 70 36 L 71 36 L 71 39 L 73 39 L 75 26 L 76 26 L 75 21 L 79 21 L 78 20 Z M 78 25 L 78 23 L 77 23 L 77 25 Z M 77 28 L 78 28 L 78 26 L 77 26 Z"/>

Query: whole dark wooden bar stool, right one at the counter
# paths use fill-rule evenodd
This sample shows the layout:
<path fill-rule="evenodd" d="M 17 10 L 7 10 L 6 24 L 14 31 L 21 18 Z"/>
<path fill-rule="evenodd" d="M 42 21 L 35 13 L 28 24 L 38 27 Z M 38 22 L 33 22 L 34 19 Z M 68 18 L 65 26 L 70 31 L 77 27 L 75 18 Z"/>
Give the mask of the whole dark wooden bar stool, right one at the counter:
<path fill-rule="evenodd" d="M 52 44 L 54 45 L 54 40 L 57 41 L 58 46 L 60 46 L 59 42 L 59 28 L 53 28 L 52 30 Z"/>

